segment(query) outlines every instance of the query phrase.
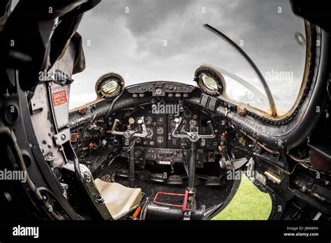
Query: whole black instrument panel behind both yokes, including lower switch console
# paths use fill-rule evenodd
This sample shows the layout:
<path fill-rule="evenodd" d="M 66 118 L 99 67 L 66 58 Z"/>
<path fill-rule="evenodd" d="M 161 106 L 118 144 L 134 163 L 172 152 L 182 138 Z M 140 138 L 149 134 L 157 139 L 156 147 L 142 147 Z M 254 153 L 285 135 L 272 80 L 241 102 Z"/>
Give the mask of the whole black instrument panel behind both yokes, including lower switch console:
<path fill-rule="evenodd" d="M 144 109 L 132 112 L 126 117 L 122 117 L 119 131 L 130 129 L 137 133 L 142 133 L 141 124 L 138 122 L 143 117 L 147 135 L 145 138 L 135 138 L 134 156 L 136 163 L 145 165 L 145 161 L 156 161 L 160 165 L 173 165 L 174 163 L 185 163 L 189 158 L 191 141 L 189 138 L 175 138 L 172 133 L 176 128 L 176 120 L 181 118 L 181 124 L 178 131 L 185 133 L 190 127 L 198 128 L 200 135 L 212 133 L 207 125 L 211 121 L 214 128 L 214 138 L 200 138 L 196 143 L 197 149 L 197 167 L 202 168 L 205 162 L 216 161 L 218 147 L 220 145 L 221 133 L 223 127 L 220 126 L 219 118 L 213 118 L 207 112 L 184 106 L 177 114 L 154 114 L 152 107 L 145 106 Z M 128 157 L 125 148 L 133 146 L 125 136 L 121 136 L 124 150 L 122 156 Z"/>

